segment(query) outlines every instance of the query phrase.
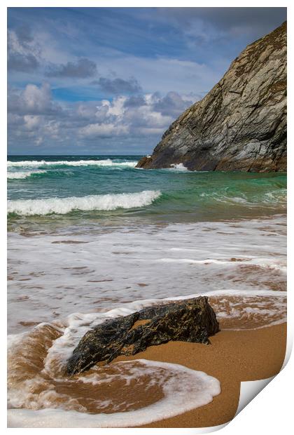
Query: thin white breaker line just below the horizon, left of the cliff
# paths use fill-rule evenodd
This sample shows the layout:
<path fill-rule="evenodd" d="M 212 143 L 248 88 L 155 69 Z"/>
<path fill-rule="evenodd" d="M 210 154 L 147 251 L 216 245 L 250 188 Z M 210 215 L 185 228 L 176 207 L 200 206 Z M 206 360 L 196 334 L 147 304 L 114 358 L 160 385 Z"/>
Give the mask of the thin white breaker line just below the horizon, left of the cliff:
<path fill-rule="evenodd" d="M 31 167 L 31 166 L 125 166 L 134 168 L 137 161 L 113 161 L 111 159 L 104 160 L 78 160 L 78 161 L 45 161 L 45 160 L 25 160 L 25 161 L 8 161 L 8 168 L 11 167 Z"/>

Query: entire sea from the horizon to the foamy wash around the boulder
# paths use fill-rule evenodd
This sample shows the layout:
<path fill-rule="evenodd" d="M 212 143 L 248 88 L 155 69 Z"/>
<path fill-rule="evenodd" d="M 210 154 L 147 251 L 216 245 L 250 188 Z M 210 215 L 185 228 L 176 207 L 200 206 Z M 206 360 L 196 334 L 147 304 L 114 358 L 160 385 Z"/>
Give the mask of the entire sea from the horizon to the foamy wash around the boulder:
<path fill-rule="evenodd" d="M 130 427 L 221 391 L 142 359 L 66 377 L 106 319 L 207 295 L 223 330 L 286 321 L 286 173 L 145 170 L 140 157 L 8 156 L 9 427 Z"/>

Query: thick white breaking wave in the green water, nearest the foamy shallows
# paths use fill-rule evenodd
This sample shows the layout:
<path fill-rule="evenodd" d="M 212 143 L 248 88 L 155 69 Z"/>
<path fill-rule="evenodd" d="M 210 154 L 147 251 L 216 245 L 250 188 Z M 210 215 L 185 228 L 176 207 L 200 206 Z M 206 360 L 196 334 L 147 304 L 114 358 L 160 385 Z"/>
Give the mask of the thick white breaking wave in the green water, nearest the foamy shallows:
<path fill-rule="evenodd" d="M 69 198 L 24 199 L 8 201 L 8 213 L 18 215 L 65 215 L 73 210 L 116 210 L 116 208 L 137 208 L 149 206 L 158 199 L 158 190 L 144 190 L 130 194 L 89 195 Z"/>

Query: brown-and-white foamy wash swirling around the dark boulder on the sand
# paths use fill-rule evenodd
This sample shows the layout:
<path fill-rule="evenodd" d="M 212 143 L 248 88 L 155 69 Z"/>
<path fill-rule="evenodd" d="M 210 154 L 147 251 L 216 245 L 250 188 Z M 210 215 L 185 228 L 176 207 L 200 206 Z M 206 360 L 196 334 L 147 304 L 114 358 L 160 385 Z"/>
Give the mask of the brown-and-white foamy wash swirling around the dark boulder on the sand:
<path fill-rule="evenodd" d="M 271 309 L 281 312 L 286 297 L 286 292 L 269 290 L 218 290 L 205 294 L 218 318 L 234 321 L 236 316 L 239 319 L 246 314 L 251 316 L 251 322 L 252 315 L 260 311 L 260 302 L 261 314 L 265 316 Z M 132 427 L 210 403 L 221 392 L 220 382 L 206 373 L 174 363 L 120 361 L 96 366 L 74 378 L 64 377 L 64 364 L 90 328 L 158 302 L 195 296 L 198 295 L 134 301 L 109 312 L 73 313 L 63 324 L 40 323 L 27 333 L 8 337 L 8 426 Z M 272 320 L 273 324 L 285 321 Z M 120 393 L 124 393 L 112 394 L 107 389 L 105 396 L 105 384 L 115 391 L 119 385 Z M 80 396 L 76 389 L 87 389 L 87 394 Z M 139 395 L 148 396 L 149 389 L 160 393 L 155 394 L 153 402 L 145 404 L 143 400 L 140 405 L 140 401 L 134 401 Z"/>

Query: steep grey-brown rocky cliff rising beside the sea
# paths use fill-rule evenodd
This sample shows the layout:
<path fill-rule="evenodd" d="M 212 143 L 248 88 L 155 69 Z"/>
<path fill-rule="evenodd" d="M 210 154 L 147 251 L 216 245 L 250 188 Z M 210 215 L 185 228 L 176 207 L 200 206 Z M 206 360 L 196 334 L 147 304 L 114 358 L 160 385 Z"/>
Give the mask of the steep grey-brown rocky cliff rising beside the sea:
<path fill-rule="evenodd" d="M 246 47 L 139 168 L 286 170 L 286 22 Z"/>

